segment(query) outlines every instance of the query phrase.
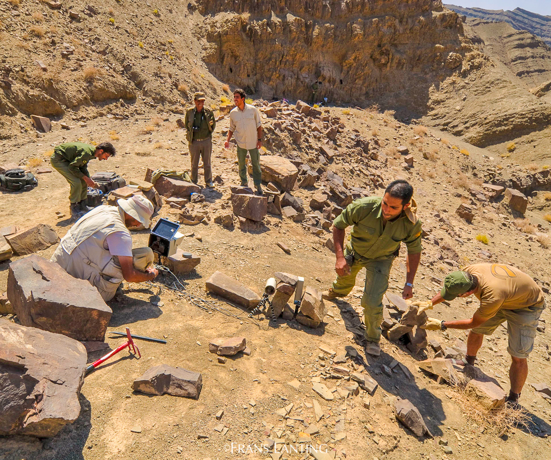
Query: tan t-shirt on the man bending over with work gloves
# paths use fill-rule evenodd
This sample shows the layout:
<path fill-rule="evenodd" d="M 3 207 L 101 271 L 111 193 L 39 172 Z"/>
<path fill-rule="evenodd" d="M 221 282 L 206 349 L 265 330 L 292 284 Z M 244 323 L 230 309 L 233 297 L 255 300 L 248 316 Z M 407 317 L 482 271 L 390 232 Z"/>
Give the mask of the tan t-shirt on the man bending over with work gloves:
<path fill-rule="evenodd" d="M 483 318 L 493 317 L 499 309 L 543 305 L 541 288 L 518 268 L 501 263 L 478 263 L 463 268 L 463 271 L 478 278 L 479 288 L 474 295 L 480 300 L 477 313 Z"/>

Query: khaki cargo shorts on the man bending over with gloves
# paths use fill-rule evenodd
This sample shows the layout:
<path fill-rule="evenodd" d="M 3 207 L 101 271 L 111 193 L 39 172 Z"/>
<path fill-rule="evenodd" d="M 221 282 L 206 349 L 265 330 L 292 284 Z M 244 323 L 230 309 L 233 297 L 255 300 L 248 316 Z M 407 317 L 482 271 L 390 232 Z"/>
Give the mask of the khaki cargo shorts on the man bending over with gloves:
<path fill-rule="evenodd" d="M 543 305 L 525 309 L 501 309 L 495 316 L 471 331 L 477 334 L 491 335 L 501 323 L 507 321 L 507 335 L 509 336 L 507 353 L 515 358 L 528 358 L 534 348 L 536 328 L 543 310 L 545 310 L 545 301 Z"/>

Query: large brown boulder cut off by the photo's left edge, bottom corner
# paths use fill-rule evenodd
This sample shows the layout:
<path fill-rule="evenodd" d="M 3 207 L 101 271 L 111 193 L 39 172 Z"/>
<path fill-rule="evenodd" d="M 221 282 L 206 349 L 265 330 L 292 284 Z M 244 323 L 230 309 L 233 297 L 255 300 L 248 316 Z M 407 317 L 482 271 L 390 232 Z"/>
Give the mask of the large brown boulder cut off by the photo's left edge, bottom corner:
<path fill-rule="evenodd" d="M 53 437 L 80 414 L 84 345 L 0 320 L 0 435 Z"/>

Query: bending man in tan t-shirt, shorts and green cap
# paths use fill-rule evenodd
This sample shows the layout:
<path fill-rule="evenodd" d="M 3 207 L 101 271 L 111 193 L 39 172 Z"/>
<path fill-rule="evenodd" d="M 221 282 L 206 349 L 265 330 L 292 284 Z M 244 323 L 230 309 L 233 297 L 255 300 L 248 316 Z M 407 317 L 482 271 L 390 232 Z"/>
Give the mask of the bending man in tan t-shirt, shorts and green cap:
<path fill-rule="evenodd" d="M 470 320 L 441 321 L 429 318 L 421 327 L 442 331 L 447 328 L 471 329 L 465 359 L 468 364 L 474 365 L 484 335 L 491 335 L 501 323 L 507 321 L 507 352 L 512 360 L 509 370 L 511 390 L 507 402 L 516 405 L 528 376 L 526 358 L 534 347 L 538 320 L 545 309 L 543 291 L 518 268 L 498 263 L 479 263 L 447 275 L 440 294 L 427 302 L 419 302 L 420 309 L 431 309 L 444 300 L 471 294 L 477 297 L 480 306 Z"/>

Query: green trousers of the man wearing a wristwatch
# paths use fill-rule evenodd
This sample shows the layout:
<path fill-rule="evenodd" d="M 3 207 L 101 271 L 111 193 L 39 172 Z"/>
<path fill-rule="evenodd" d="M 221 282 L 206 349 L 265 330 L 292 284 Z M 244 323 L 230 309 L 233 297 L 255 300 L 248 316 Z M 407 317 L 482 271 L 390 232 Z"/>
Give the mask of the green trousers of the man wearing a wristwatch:
<path fill-rule="evenodd" d="M 344 249 L 344 256 L 352 254 L 352 248 Z M 333 291 L 343 296 L 350 294 L 356 285 L 358 272 L 365 268 L 364 295 L 361 297 L 361 306 L 364 307 L 365 338 L 369 342 L 381 340 L 382 323 L 382 297 L 388 289 L 388 277 L 392 268 L 393 258 L 383 260 L 354 257 L 354 263 L 350 267 L 350 274 L 344 277 L 337 276 L 333 282 Z"/>

